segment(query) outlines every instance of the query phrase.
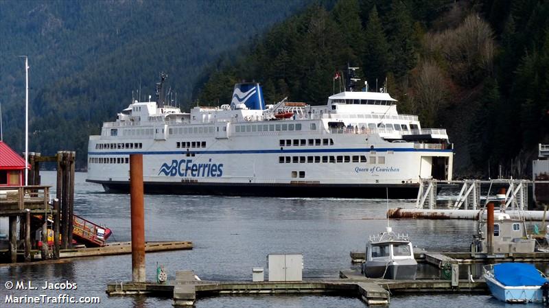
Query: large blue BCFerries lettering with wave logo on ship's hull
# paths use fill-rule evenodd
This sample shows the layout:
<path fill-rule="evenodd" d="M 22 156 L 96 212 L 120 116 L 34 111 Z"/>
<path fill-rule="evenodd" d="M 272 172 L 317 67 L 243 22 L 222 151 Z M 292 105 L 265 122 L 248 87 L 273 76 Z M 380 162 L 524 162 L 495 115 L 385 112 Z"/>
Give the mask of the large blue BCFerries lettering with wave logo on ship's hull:
<path fill-rule="evenodd" d="M 223 164 L 211 163 L 211 158 L 208 163 L 193 163 L 192 159 L 174 159 L 171 165 L 163 163 L 160 167 L 159 175 L 165 176 L 182 176 L 182 177 L 212 177 L 220 178 L 223 176 Z"/>

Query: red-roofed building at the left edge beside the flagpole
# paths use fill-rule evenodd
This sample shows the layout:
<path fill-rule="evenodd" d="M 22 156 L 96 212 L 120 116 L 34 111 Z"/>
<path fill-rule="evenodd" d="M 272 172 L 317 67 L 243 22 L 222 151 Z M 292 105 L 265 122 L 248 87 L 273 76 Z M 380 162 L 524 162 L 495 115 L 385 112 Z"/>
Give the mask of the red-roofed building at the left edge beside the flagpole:
<path fill-rule="evenodd" d="M 23 185 L 25 159 L 0 141 L 0 187 Z"/>

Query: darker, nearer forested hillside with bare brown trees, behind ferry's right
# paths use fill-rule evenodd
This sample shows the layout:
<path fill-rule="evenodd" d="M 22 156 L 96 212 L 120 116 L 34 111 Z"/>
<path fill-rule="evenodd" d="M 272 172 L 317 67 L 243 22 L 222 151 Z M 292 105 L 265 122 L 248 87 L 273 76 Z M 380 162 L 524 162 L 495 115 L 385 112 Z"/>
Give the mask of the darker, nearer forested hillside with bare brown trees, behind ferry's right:
<path fill-rule="evenodd" d="M 447 128 L 454 174 L 528 176 L 549 130 L 547 1 L 339 0 L 274 26 L 250 53 L 215 67 L 201 102 L 229 102 L 241 79 L 266 100 L 325 104 L 334 72 L 387 80 L 399 111 Z"/>

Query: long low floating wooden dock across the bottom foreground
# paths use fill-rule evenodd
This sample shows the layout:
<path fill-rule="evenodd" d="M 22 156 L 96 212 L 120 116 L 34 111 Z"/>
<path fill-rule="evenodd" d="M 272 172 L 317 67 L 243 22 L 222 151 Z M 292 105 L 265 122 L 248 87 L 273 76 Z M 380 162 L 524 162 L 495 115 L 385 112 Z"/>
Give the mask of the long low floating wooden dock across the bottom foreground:
<path fill-rule="evenodd" d="M 336 296 L 356 296 L 366 305 L 390 303 L 390 294 L 432 292 L 487 293 L 484 281 L 458 281 L 452 285 L 445 280 L 393 281 L 369 279 L 355 270 L 340 271 L 340 279 L 305 281 L 198 281 L 192 271 L 176 272 L 176 280 L 167 283 L 108 283 L 109 296 L 147 294 L 149 296 L 173 296 L 175 307 L 194 307 L 196 300 L 205 296 L 219 295 L 258 295 L 258 294 L 326 294 Z"/>

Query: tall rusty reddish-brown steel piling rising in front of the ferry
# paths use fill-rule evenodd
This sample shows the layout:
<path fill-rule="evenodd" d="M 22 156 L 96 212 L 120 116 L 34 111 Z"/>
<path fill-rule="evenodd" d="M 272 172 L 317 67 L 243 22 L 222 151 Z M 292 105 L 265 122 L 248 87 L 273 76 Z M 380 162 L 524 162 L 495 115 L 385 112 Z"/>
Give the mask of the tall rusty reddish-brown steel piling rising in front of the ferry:
<path fill-rule="evenodd" d="M 143 207 L 143 154 L 130 154 L 132 220 L 132 281 L 145 282 L 145 210 Z"/>

